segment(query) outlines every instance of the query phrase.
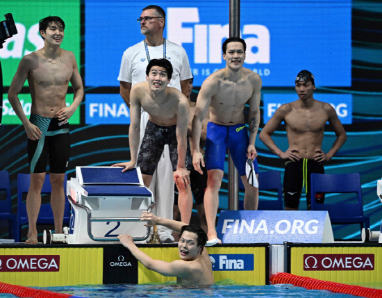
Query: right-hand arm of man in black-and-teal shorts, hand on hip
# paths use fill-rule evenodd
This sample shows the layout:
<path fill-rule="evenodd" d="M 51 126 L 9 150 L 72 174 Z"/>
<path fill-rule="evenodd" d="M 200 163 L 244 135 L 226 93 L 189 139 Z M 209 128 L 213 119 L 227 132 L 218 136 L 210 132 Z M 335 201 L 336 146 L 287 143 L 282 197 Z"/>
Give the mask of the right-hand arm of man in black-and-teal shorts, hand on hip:
<path fill-rule="evenodd" d="M 73 64 L 73 74 L 72 78 L 70 78 L 70 83 L 72 83 L 74 97 L 73 103 L 70 106 L 60 109 L 56 114 L 60 122 L 69 120 L 69 118 L 72 117 L 74 112 L 76 112 L 78 106 L 80 106 L 83 99 L 83 83 L 80 73 L 78 72 L 78 65 L 76 58 L 74 57 L 74 53 L 69 52 L 69 57 Z"/>

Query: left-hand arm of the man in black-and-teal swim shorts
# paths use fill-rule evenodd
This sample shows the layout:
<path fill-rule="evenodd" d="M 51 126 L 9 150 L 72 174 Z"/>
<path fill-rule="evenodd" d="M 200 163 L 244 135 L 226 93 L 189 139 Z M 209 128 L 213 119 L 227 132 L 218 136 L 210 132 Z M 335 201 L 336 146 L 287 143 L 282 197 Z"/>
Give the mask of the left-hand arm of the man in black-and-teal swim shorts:
<path fill-rule="evenodd" d="M 31 55 L 31 54 L 30 54 Z M 21 120 L 26 135 L 31 140 L 38 140 L 41 138 L 41 131 L 38 126 L 35 126 L 29 122 L 29 119 L 26 117 L 24 110 L 22 109 L 22 104 L 20 104 L 19 93 L 22 90 L 22 86 L 24 85 L 26 79 L 28 78 L 28 74 L 31 70 L 31 65 L 33 63 L 33 58 L 30 55 L 24 56 L 20 61 L 19 67 L 17 68 L 17 72 L 15 76 L 13 76 L 12 83 L 10 84 L 10 88 L 8 91 L 8 99 L 9 103 L 15 111 L 17 117 Z"/>

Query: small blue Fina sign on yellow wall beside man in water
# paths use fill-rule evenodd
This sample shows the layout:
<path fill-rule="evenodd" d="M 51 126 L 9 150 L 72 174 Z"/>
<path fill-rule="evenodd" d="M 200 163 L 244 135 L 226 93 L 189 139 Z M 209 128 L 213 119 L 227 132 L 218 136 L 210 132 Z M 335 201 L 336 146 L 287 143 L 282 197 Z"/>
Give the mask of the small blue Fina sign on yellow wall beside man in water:
<path fill-rule="evenodd" d="M 211 254 L 213 271 L 253 271 L 253 254 Z"/>

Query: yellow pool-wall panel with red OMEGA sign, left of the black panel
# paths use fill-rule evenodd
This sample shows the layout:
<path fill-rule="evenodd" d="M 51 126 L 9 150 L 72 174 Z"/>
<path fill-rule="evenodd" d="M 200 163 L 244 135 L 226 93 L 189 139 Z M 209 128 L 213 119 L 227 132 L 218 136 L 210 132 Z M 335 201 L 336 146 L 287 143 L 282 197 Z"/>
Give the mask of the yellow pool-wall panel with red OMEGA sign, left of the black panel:
<path fill-rule="evenodd" d="M 0 281 L 24 286 L 102 283 L 101 247 L 0 246 Z"/>

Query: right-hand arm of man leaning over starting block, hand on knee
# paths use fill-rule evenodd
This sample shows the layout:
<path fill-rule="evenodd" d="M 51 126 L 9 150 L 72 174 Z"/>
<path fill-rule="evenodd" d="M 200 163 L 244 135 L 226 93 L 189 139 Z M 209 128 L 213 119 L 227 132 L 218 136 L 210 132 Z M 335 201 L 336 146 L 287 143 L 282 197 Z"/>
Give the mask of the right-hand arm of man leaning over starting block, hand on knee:
<path fill-rule="evenodd" d="M 188 106 L 188 100 L 180 94 L 178 104 L 178 113 L 176 115 L 176 141 L 178 142 L 178 165 L 174 172 L 174 181 L 176 186 L 183 186 L 186 188 L 190 185 L 190 174 L 185 167 L 185 155 L 187 152 L 187 128 L 188 121 L 190 119 L 190 106 Z M 180 179 L 181 181 L 178 181 Z M 178 185 L 180 183 L 180 185 Z"/>

